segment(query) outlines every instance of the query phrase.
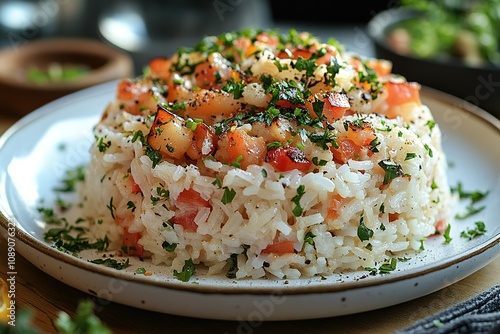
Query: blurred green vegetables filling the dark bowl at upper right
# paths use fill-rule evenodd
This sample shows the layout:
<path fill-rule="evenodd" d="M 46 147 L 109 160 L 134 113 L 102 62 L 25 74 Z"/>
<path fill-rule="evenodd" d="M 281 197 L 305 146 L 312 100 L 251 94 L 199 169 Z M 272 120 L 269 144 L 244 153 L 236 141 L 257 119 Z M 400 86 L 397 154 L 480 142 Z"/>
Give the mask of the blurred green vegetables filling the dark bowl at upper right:
<path fill-rule="evenodd" d="M 401 7 L 421 15 L 390 29 L 395 51 L 475 66 L 500 63 L 500 0 L 401 0 Z"/>

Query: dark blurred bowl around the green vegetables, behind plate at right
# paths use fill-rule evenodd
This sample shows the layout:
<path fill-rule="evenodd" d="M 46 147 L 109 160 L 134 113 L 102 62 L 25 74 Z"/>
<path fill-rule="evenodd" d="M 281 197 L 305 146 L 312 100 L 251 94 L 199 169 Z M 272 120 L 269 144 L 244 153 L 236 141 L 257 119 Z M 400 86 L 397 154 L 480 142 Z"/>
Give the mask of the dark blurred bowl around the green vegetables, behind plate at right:
<path fill-rule="evenodd" d="M 415 11 L 394 8 L 375 15 L 366 31 L 374 43 L 377 58 L 390 60 L 393 73 L 405 76 L 472 103 L 500 118 L 500 67 L 470 66 L 451 57 L 418 58 L 396 52 L 388 43 L 388 32 Z"/>

